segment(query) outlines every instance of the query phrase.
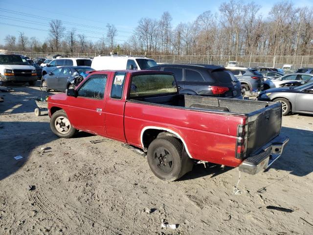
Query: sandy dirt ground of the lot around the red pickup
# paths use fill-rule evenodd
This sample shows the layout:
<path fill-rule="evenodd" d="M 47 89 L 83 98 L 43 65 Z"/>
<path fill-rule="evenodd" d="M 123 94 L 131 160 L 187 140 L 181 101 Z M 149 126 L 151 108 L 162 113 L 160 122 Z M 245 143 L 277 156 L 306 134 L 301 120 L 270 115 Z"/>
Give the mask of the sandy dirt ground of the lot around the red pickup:
<path fill-rule="evenodd" d="M 0 234 L 313 234 L 313 116 L 284 117 L 283 156 L 267 172 L 242 173 L 234 195 L 237 168 L 199 164 L 167 183 L 120 142 L 59 139 L 47 112 L 34 115 L 39 88 L 13 88 L 0 93 Z"/>

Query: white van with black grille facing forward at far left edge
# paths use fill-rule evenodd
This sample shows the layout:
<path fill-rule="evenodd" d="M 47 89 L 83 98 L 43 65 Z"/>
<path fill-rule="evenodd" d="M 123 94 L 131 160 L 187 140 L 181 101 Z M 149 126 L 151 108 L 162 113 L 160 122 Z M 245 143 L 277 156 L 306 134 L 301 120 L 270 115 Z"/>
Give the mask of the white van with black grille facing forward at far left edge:
<path fill-rule="evenodd" d="M 37 81 L 36 69 L 21 55 L 0 54 L 0 81 L 2 86 L 7 82 L 28 82 L 33 86 Z"/>

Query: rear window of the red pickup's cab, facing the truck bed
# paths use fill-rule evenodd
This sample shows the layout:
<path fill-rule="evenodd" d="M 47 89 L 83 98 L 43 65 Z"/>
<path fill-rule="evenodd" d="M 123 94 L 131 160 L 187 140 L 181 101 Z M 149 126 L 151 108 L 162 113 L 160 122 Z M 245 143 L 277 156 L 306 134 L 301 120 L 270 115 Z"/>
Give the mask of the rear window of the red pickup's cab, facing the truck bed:
<path fill-rule="evenodd" d="M 132 77 L 131 98 L 173 93 L 177 93 L 176 82 L 173 75 L 146 74 Z"/>

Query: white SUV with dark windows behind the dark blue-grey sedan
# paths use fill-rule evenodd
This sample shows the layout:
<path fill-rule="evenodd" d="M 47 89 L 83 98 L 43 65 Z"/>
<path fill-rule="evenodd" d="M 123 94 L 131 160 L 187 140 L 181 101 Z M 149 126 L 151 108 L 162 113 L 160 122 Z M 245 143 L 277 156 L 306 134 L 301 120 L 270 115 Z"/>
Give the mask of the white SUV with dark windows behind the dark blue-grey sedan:
<path fill-rule="evenodd" d="M 91 60 L 86 58 L 57 58 L 43 68 L 42 75 L 44 76 L 60 66 L 91 66 Z"/>

